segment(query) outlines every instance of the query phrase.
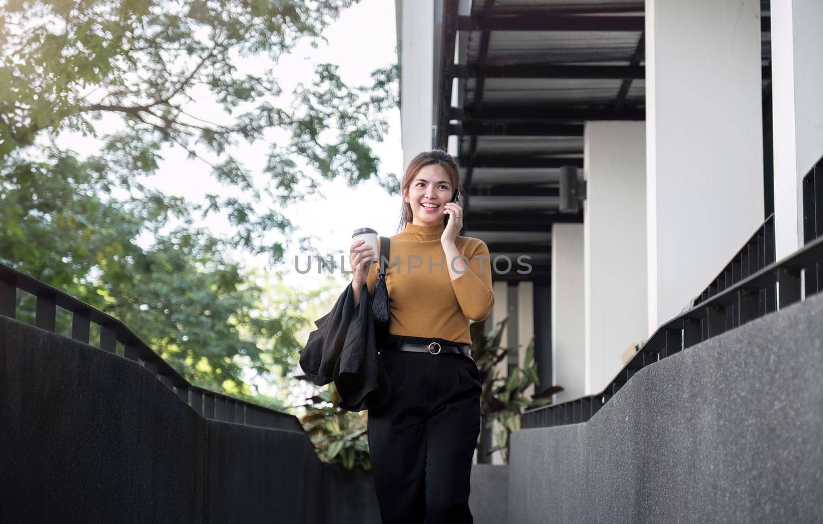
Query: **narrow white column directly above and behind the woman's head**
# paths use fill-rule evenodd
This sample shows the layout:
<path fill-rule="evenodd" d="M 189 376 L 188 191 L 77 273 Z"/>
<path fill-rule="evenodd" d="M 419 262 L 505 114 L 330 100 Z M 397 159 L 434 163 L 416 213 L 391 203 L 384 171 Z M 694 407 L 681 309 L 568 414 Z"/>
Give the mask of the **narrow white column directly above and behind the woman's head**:
<path fill-rule="evenodd" d="M 434 111 L 434 0 L 402 2 L 400 35 L 400 123 L 403 168 L 421 151 L 431 149 Z"/>

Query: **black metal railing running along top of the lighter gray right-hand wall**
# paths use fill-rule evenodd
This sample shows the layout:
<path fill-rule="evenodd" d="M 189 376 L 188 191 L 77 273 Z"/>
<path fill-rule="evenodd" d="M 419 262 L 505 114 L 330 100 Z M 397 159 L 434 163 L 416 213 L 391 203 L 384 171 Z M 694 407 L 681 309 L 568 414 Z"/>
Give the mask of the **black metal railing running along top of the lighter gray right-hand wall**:
<path fill-rule="evenodd" d="M 521 426 L 546 428 L 588 421 L 640 369 L 810 296 L 811 293 L 802 292 L 802 276 L 807 268 L 821 263 L 823 236 L 818 236 L 793 255 L 718 290 L 712 297 L 661 325 L 601 393 L 529 409 L 523 414 Z M 772 293 L 776 297 L 774 310 L 768 303 Z"/>

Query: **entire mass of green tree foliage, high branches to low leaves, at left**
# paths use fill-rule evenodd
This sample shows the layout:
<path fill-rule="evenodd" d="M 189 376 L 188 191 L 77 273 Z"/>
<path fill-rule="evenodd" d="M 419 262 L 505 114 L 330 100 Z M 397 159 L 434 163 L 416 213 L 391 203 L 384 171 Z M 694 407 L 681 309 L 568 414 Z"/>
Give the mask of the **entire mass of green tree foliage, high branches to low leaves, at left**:
<path fill-rule="evenodd" d="M 250 56 L 275 63 L 301 39 L 322 40 L 350 4 L 6 2 L 0 259 L 123 320 L 202 386 L 250 395 L 249 373 L 293 369 L 305 296 L 267 307 L 272 288 L 237 255 L 281 264 L 296 232 L 278 207 L 320 180 L 376 177 L 396 189 L 396 177 L 379 175 L 370 143 L 387 129 L 398 71 L 384 68 L 373 86 L 347 87 L 324 64 L 283 109 L 274 67 L 241 74 L 237 64 Z M 209 113 L 211 103 L 221 112 Z M 116 133 L 95 129 L 102 115 L 121 120 Z M 79 158 L 61 149 L 65 130 L 99 140 L 100 151 Z M 235 157 L 243 141 L 274 143 L 267 176 L 253 176 Z M 207 162 L 216 180 L 239 191 L 193 204 L 149 189 L 140 180 L 157 174 L 164 147 Z M 230 222 L 230 236 L 202 227 L 212 213 Z"/>

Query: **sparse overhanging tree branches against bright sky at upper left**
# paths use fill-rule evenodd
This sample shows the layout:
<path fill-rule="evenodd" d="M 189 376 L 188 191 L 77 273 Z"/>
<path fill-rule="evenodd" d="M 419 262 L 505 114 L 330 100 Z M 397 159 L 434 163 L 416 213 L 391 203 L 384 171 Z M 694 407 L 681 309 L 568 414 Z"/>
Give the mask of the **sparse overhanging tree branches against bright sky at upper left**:
<path fill-rule="evenodd" d="M 182 147 L 242 190 L 242 198 L 210 195 L 204 212 L 225 212 L 235 246 L 276 264 L 283 241 L 267 233 L 290 225 L 276 206 L 340 176 L 352 186 L 372 177 L 398 185 L 379 175 L 370 147 L 397 105 L 396 67 L 375 71 L 372 86 L 347 87 L 336 66 L 323 64 L 291 101 L 277 84 L 277 58 L 301 39 L 317 44 L 351 3 L 10 0 L 0 11 L 0 158 L 71 129 L 105 143 L 117 161 L 109 183 L 124 185 L 156 171 L 161 147 Z M 250 57 L 271 58 L 272 67 L 240 73 Z M 96 132 L 93 121 L 105 114 L 123 120 L 118 133 Z M 272 145 L 268 178 L 257 183 L 232 151 L 261 140 Z"/>

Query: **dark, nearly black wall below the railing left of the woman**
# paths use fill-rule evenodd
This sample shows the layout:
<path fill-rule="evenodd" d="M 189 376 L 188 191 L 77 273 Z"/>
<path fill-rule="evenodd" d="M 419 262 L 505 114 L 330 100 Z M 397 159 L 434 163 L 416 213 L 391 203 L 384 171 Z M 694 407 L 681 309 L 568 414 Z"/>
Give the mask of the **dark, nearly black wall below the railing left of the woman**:
<path fill-rule="evenodd" d="M 305 433 L 203 419 L 128 359 L 0 316 L 0 522 L 379 522 Z"/>

